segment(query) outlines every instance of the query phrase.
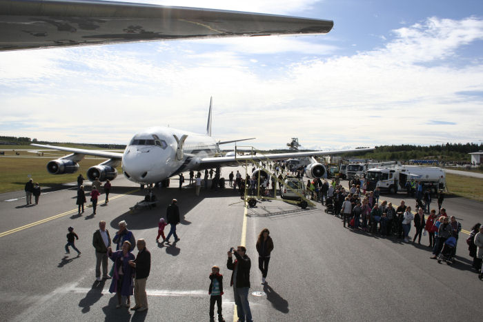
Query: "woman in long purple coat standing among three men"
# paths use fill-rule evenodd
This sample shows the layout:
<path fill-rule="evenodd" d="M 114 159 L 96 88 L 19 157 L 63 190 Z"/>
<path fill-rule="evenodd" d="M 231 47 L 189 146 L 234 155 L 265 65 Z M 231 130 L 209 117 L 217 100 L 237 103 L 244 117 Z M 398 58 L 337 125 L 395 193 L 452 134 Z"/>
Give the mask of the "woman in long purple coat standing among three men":
<path fill-rule="evenodd" d="M 117 294 L 116 308 L 121 308 L 122 296 L 126 296 L 128 300 L 124 305 L 126 308 L 130 306 L 129 296 L 132 295 L 132 279 L 134 278 L 135 270 L 129 265 L 129 261 L 134 261 L 135 256 L 130 252 L 131 243 L 124 241 L 121 250 L 112 252 L 108 249 L 109 258 L 114 262 L 114 274 L 110 283 L 109 292 Z"/>

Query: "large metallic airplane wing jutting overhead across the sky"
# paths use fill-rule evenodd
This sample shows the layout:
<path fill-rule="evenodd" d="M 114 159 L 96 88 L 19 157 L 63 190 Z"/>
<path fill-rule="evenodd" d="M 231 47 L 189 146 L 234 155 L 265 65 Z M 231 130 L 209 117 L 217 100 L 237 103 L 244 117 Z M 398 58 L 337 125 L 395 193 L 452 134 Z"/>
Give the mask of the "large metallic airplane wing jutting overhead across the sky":
<path fill-rule="evenodd" d="M 0 51 L 270 34 L 321 34 L 333 21 L 99 0 L 0 0 Z"/>

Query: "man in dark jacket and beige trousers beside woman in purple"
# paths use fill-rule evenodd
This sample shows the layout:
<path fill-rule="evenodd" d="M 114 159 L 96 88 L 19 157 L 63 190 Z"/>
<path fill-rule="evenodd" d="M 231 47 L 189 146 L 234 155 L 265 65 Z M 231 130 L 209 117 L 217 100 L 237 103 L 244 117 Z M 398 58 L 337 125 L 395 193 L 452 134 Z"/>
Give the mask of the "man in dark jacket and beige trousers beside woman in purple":
<path fill-rule="evenodd" d="M 142 312 L 148 310 L 146 281 L 151 270 L 151 253 L 146 248 L 146 241 L 144 239 L 138 239 L 136 246 L 139 250 L 136 259 L 129 262 L 129 265 L 135 268 L 134 299 L 136 305 L 131 310 Z"/>

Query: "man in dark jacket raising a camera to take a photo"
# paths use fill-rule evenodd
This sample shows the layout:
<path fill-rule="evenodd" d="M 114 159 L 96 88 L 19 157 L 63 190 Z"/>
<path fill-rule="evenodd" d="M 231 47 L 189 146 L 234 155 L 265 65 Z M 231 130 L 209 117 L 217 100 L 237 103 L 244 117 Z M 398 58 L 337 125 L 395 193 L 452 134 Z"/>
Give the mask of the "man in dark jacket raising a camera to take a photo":
<path fill-rule="evenodd" d="M 230 286 L 233 285 L 233 296 L 237 305 L 237 314 L 239 321 L 252 322 L 252 312 L 250 311 L 250 303 L 248 303 L 248 290 L 250 289 L 250 257 L 246 255 L 246 248 L 238 246 L 233 251 L 237 258 L 233 262 L 232 253 L 228 252 L 228 261 L 226 268 L 233 270 L 231 275 Z"/>

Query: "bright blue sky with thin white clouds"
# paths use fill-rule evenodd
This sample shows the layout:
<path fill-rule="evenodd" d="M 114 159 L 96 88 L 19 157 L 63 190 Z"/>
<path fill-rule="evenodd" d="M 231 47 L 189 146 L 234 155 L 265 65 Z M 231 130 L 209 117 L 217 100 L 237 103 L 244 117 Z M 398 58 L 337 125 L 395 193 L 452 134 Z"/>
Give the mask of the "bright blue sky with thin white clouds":
<path fill-rule="evenodd" d="M 0 134 L 128 143 L 170 125 L 256 148 L 483 140 L 482 1 L 130 1 L 330 19 L 328 34 L 0 52 Z"/>

